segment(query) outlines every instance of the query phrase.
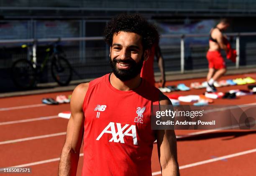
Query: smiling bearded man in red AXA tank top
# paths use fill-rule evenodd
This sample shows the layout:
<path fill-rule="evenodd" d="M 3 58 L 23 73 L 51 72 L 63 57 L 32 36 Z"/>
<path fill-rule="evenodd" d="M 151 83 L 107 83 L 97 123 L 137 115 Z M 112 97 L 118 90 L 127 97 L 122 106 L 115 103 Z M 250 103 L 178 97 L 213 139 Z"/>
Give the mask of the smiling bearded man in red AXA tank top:
<path fill-rule="evenodd" d="M 78 85 L 59 163 L 59 176 L 74 176 L 84 138 L 83 176 L 151 176 L 157 139 L 162 175 L 179 175 L 173 130 L 151 130 L 151 105 L 171 104 L 140 71 L 158 35 L 139 15 L 119 15 L 105 28 L 113 73 Z"/>

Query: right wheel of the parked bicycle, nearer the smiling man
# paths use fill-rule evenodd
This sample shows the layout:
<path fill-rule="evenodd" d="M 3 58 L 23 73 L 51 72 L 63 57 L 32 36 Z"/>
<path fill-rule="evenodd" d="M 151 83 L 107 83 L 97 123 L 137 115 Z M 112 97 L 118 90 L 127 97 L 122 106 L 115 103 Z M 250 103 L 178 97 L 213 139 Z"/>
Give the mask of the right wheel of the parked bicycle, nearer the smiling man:
<path fill-rule="evenodd" d="M 59 85 L 68 85 L 72 78 L 72 68 L 69 61 L 61 56 L 54 57 L 51 62 L 51 74 Z"/>

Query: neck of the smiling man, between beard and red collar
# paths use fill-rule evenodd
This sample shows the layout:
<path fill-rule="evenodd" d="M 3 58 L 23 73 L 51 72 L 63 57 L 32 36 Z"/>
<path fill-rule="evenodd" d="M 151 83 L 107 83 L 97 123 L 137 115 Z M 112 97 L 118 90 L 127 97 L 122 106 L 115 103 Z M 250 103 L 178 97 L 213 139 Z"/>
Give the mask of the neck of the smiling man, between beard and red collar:
<path fill-rule="evenodd" d="M 120 91 L 131 91 L 141 84 L 141 78 L 140 75 L 137 75 L 135 78 L 132 78 L 131 80 L 122 81 L 118 79 L 114 73 L 111 73 L 110 84 Z"/>

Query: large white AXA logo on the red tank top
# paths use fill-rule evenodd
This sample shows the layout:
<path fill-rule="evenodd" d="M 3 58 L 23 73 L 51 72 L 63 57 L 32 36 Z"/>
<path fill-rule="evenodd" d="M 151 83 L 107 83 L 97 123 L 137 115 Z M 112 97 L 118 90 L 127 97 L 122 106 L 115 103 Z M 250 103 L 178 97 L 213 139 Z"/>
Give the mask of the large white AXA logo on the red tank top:
<path fill-rule="evenodd" d="M 110 122 L 108 126 L 100 133 L 100 135 L 97 137 L 97 141 L 100 140 L 100 138 L 105 133 L 112 134 L 112 138 L 109 140 L 109 142 L 117 142 L 117 143 L 125 143 L 124 142 L 124 136 L 131 136 L 133 138 L 133 144 L 138 145 L 137 141 L 137 134 L 136 134 L 136 126 L 135 125 L 129 125 L 125 124 L 125 126 L 121 126 L 121 123 L 116 123 L 116 127 L 118 131 L 115 131 L 115 123 Z M 123 131 L 129 127 L 124 133 Z M 110 130 L 108 130 L 110 128 Z"/>

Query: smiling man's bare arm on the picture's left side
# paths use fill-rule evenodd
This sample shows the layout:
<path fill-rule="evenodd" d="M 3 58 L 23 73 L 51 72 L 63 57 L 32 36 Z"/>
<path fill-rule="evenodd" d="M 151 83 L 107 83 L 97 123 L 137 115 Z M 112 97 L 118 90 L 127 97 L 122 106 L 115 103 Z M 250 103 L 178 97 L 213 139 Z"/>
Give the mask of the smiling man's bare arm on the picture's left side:
<path fill-rule="evenodd" d="M 67 125 L 66 141 L 59 161 L 59 176 L 75 176 L 84 132 L 84 96 L 89 83 L 78 85 L 70 102 L 71 116 Z"/>

